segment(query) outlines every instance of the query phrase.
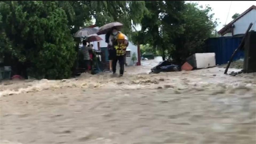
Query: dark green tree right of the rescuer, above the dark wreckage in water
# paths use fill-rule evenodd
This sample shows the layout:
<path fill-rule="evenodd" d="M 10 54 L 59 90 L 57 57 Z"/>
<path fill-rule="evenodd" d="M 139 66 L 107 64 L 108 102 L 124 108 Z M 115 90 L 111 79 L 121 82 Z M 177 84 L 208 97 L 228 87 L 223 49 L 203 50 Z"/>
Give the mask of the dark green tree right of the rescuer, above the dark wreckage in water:
<path fill-rule="evenodd" d="M 141 21 L 142 29 L 134 32 L 133 40 L 140 44 L 151 44 L 163 60 L 173 47 L 172 40 L 183 32 L 181 14 L 184 1 L 145 1 L 148 13 Z"/>

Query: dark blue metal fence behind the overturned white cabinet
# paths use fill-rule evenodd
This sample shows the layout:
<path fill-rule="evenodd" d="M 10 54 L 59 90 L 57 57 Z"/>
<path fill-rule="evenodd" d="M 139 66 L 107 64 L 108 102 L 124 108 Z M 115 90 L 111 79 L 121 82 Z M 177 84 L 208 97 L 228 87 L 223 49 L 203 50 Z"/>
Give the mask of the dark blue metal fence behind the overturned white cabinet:
<path fill-rule="evenodd" d="M 242 37 L 216 37 L 206 41 L 208 53 L 215 53 L 216 64 L 222 65 L 230 60 L 231 55 L 242 41 Z M 244 57 L 244 52 L 238 50 L 233 61 Z"/>

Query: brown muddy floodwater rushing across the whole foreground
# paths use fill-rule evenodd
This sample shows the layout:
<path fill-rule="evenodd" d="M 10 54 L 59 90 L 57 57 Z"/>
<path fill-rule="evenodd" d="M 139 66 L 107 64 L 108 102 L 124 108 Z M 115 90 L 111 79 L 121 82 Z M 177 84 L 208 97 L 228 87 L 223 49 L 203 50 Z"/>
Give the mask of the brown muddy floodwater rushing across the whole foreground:
<path fill-rule="evenodd" d="M 256 143 L 256 75 L 224 68 L 0 85 L 0 143 Z M 239 71 L 239 69 L 230 69 Z"/>

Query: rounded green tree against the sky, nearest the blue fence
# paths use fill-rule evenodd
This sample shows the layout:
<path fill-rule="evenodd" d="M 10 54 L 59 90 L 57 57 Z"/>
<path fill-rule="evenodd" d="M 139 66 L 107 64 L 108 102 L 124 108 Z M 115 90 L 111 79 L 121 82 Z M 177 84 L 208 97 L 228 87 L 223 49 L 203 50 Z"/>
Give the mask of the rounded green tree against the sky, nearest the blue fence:
<path fill-rule="evenodd" d="M 184 24 L 183 33 L 180 33 L 174 40 L 174 49 L 170 50 L 172 57 L 178 64 L 186 61 L 186 58 L 194 53 L 204 52 L 205 40 L 211 37 L 211 33 L 217 25 L 213 20 L 214 14 L 211 7 L 205 9 L 198 7 L 197 3 L 187 3 L 183 10 Z"/>

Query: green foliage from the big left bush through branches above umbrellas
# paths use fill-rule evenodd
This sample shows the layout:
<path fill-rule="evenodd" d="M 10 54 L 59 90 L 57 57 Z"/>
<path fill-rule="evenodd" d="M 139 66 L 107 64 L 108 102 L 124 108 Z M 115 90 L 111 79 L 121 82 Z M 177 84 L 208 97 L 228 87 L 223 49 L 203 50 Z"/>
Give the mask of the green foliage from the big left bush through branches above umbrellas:
<path fill-rule="evenodd" d="M 98 26 L 119 21 L 130 37 L 147 9 L 144 1 L 5 1 L 0 13 L 0 56 L 11 55 L 30 76 L 61 79 L 76 67 L 80 39 L 72 35 L 80 27 L 93 17 Z"/>

